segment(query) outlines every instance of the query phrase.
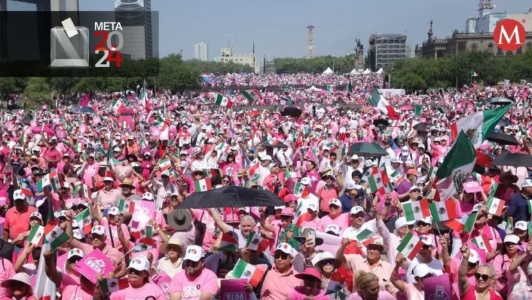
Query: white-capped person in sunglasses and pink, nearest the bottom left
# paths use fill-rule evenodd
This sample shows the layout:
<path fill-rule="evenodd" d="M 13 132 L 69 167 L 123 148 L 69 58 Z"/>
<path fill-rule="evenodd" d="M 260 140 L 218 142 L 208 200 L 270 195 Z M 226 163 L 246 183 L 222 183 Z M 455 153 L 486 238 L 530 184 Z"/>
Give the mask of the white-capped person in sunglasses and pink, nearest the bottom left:
<path fill-rule="evenodd" d="M 127 266 L 128 288 L 112 292 L 110 300 L 166 300 L 165 294 L 158 285 L 150 282 L 150 261 L 144 256 L 137 257 Z M 105 299 L 105 296 L 103 297 Z"/>

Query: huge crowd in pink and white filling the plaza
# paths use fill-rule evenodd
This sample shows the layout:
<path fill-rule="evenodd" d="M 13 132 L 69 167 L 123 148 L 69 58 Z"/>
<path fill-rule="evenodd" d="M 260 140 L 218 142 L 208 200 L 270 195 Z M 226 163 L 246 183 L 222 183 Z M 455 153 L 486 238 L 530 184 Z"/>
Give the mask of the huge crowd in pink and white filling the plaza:
<path fill-rule="evenodd" d="M 273 78 L 269 85 L 332 79 L 254 78 Z M 265 92 L 256 104 L 274 104 L 269 110 L 176 95 L 94 99 L 85 113 L 3 111 L 0 299 L 236 299 L 224 290 L 233 279 L 245 299 L 420 300 L 426 280 L 445 274 L 449 298 L 532 299 L 530 170 L 490 163 L 532 154 L 532 86 L 389 97 L 398 120 L 388 120 L 366 104 L 376 78 L 353 81 L 354 91 L 341 95 Z M 357 91 L 360 109 L 338 104 Z M 441 199 L 452 201 L 456 220 L 476 216 L 471 231 L 447 227 L 440 216 L 413 219 L 405 205 L 436 203 L 434 170 L 459 160 L 447 157 L 454 122 L 503 96 L 513 103 L 494 131 L 517 144 L 482 141 L 479 167 Z M 240 94 L 223 97 L 253 104 Z M 287 97 L 302 104 L 299 113 L 281 115 L 276 101 Z M 353 153 L 362 142 L 387 154 Z M 375 174 L 389 179 L 389 189 L 375 189 Z M 480 188 L 470 191 L 472 182 Z M 279 205 L 180 208 L 198 193 L 232 187 L 274 194 Z M 492 212 L 493 198 L 504 209 Z M 412 236 L 418 252 L 408 255 L 401 245 Z"/>

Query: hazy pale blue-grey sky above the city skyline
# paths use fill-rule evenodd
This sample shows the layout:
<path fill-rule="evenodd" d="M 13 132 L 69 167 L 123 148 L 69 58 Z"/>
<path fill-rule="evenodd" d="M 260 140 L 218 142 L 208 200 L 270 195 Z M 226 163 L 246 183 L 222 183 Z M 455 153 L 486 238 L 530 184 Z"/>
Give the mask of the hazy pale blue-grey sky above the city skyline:
<path fill-rule="evenodd" d="M 114 0 L 79 0 L 80 10 L 112 11 Z M 159 56 L 179 53 L 194 58 L 194 44 L 209 45 L 209 59 L 233 39 L 233 53 L 300 58 L 306 54 L 306 27 L 313 25 L 315 55 L 346 55 L 360 39 L 364 56 L 373 33 L 406 33 L 412 50 L 434 36 L 465 30 L 468 17 L 478 17 L 479 0 L 152 0 L 159 12 Z M 493 12 L 524 13 L 530 0 L 493 0 Z"/>

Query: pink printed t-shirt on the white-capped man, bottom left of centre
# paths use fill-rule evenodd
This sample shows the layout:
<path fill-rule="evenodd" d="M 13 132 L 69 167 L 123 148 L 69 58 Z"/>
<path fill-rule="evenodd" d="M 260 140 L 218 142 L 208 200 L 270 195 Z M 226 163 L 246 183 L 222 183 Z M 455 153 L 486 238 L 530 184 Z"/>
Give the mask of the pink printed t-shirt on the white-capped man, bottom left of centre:
<path fill-rule="evenodd" d="M 216 294 L 218 292 L 218 278 L 208 269 L 203 269 L 202 274 L 190 277 L 185 271 L 175 274 L 170 283 L 170 293 L 181 292 L 181 300 L 199 300 L 202 292 Z"/>

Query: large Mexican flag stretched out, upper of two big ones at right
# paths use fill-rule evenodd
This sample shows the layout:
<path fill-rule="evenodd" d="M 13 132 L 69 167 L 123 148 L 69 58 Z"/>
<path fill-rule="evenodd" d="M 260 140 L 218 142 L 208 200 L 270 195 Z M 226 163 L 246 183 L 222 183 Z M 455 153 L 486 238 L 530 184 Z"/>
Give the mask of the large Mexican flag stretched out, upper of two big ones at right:
<path fill-rule="evenodd" d="M 452 123 L 451 134 L 453 140 L 456 140 L 459 133 L 463 131 L 471 144 L 473 144 L 473 147 L 478 149 L 510 108 L 511 105 L 505 105 L 488 111 L 479 111 Z"/>

